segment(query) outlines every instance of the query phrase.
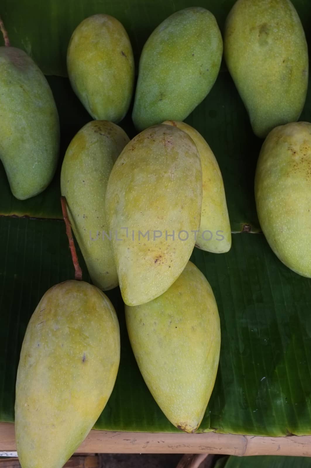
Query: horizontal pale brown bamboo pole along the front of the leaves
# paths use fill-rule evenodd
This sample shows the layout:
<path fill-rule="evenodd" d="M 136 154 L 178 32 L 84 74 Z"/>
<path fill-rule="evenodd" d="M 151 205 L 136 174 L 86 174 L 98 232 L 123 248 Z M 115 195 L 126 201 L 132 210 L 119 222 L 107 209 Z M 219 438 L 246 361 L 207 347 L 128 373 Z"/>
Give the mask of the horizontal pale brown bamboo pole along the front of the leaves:
<path fill-rule="evenodd" d="M 15 451 L 14 424 L 0 423 L 0 452 Z M 221 453 L 227 455 L 311 456 L 311 436 L 259 437 L 90 431 L 77 453 Z"/>

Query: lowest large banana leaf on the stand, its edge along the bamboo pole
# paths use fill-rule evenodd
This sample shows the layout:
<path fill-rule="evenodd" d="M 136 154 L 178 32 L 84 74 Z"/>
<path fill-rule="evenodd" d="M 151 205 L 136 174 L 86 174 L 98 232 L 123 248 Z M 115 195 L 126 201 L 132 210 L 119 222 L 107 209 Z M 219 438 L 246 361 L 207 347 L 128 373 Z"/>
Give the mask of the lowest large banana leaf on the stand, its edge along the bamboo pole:
<path fill-rule="evenodd" d="M 0 420 L 14 421 L 27 323 L 44 292 L 74 278 L 74 268 L 62 221 L 2 217 L 0 245 Z M 199 431 L 311 434 L 311 280 L 286 268 L 263 234 L 234 234 L 227 254 L 194 249 L 192 260 L 213 288 L 222 330 L 219 371 Z M 118 313 L 121 361 L 96 429 L 178 431 L 135 363 L 119 289 L 107 295 Z"/>

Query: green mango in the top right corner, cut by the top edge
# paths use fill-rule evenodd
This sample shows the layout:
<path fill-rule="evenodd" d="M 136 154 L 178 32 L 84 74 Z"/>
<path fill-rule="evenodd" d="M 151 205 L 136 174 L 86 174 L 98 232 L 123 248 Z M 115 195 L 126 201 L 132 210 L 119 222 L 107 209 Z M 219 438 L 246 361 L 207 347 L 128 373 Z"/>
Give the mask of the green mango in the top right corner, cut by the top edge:
<path fill-rule="evenodd" d="M 226 21 L 224 57 L 258 137 L 298 120 L 308 47 L 289 0 L 237 0 Z"/>

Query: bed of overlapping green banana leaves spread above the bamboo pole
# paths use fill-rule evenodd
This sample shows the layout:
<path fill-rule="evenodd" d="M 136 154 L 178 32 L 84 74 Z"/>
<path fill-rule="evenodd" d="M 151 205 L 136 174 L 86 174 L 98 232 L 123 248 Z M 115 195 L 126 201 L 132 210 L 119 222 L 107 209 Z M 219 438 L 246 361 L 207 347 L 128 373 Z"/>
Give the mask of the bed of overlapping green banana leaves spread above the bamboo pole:
<path fill-rule="evenodd" d="M 66 78 L 71 33 L 94 13 L 116 16 L 133 44 L 136 66 L 152 30 L 174 11 L 203 6 L 221 27 L 234 0 L 2 0 L 11 44 L 27 51 L 48 76 L 61 125 L 59 168 L 42 194 L 26 201 L 10 193 L 0 166 L 0 420 L 14 421 L 15 377 L 27 323 L 54 284 L 74 278 L 60 211 L 59 174 L 67 145 L 91 120 Z M 311 44 L 309 0 L 294 0 Z M 1 42 L 0 42 L 1 44 Z M 310 87 L 309 87 L 310 89 Z M 311 94 L 301 120 L 311 121 Z M 225 184 L 233 232 L 259 231 L 253 178 L 257 139 L 224 64 L 214 88 L 186 119 L 213 149 Z M 130 114 L 121 123 L 130 137 Z M 30 219 L 39 218 L 39 219 Z M 84 279 L 89 280 L 81 254 Z M 221 317 L 222 348 L 215 388 L 199 431 L 282 436 L 311 434 L 311 282 L 287 269 L 262 234 L 233 235 L 232 249 L 215 255 L 194 249 Z M 111 398 L 96 429 L 178 431 L 146 387 L 128 341 L 118 288 L 108 292 L 118 312 L 121 362 Z M 303 465 L 302 465 L 303 466 Z"/>

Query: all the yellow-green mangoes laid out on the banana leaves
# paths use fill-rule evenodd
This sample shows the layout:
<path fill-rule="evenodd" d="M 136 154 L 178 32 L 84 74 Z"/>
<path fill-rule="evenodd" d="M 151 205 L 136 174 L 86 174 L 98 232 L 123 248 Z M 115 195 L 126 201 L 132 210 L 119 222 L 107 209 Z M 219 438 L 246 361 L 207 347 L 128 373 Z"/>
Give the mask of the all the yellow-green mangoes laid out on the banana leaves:
<path fill-rule="evenodd" d="M 54 176 L 59 118 L 44 75 L 0 28 L 0 157 L 23 200 Z M 189 258 L 194 247 L 228 252 L 231 230 L 215 155 L 183 120 L 213 87 L 223 51 L 253 132 L 265 138 L 255 177 L 261 228 L 283 263 L 311 277 L 311 124 L 296 123 L 308 84 L 303 27 L 289 0 L 237 0 L 223 37 L 205 8 L 174 13 L 144 45 L 134 87 L 133 51 L 117 19 L 94 15 L 72 34 L 68 76 L 94 120 L 69 144 L 60 185 L 93 285 L 53 286 L 30 319 L 15 400 L 23 468 L 61 468 L 104 409 L 120 336 L 103 291 L 118 285 L 151 394 L 176 427 L 200 425 L 220 322 L 213 291 Z M 129 140 L 117 124 L 133 95 L 140 133 Z"/>

